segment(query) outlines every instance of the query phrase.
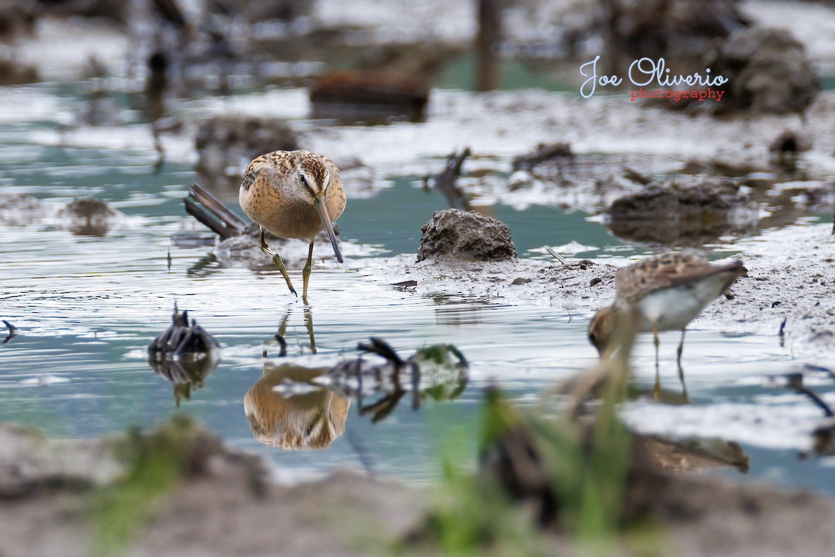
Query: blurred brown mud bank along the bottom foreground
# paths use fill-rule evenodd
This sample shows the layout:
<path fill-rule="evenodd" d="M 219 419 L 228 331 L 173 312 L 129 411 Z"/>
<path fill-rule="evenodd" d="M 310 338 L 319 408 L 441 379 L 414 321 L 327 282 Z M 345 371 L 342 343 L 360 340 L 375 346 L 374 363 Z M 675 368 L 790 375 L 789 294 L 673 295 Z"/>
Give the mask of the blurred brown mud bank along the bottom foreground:
<path fill-rule="evenodd" d="M 136 504 L 146 514 L 139 514 L 134 533 L 123 542 L 108 544 L 96 537 L 107 519 L 94 511 L 103 497 L 107 500 L 108 492 L 94 486 L 102 489 L 114 479 L 124 481 L 125 462 L 114 459 L 118 438 L 49 440 L 5 425 L 0 426 L 0 436 L 4 557 L 114 551 L 384 555 L 423 537 L 419 533 L 426 527 L 427 513 L 438 504 L 433 489 L 356 473 L 337 472 L 291 486 L 271 484 L 265 481 L 258 459 L 224 449 L 219 439 L 198 428 L 180 442 L 188 466 L 164 493 L 139 496 Z M 135 443 L 139 438 L 133 439 Z M 61 459 L 55 459 L 57 452 Z M 661 554 L 670 550 L 687 557 L 831 554 L 835 534 L 827 524 L 835 519 L 832 499 L 711 475 L 668 475 L 660 481 L 665 492 L 649 506 L 654 528 L 663 528 L 663 533 L 654 530 L 656 534 L 645 543 L 655 545 Z M 651 492 L 640 497 L 656 499 Z M 533 543 L 545 551 L 579 551 L 573 541 L 553 531 L 538 538 Z M 614 554 L 634 554 L 629 539 L 620 540 L 617 547 Z M 412 552 L 443 554 L 425 541 L 412 546 Z"/>

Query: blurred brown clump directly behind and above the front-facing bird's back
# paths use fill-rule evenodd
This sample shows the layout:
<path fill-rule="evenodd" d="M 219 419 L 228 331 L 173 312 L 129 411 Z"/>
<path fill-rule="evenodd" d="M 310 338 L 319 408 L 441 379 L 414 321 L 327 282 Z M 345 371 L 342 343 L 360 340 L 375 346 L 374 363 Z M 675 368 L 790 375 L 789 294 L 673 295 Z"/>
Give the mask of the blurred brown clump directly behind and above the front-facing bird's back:
<path fill-rule="evenodd" d="M 230 115 L 200 124 L 195 139 L 197 173 L 208 188 L 234 189 L 253 158 L 271 151 L 299 148 L 296 133 L 280 118 Z"/>

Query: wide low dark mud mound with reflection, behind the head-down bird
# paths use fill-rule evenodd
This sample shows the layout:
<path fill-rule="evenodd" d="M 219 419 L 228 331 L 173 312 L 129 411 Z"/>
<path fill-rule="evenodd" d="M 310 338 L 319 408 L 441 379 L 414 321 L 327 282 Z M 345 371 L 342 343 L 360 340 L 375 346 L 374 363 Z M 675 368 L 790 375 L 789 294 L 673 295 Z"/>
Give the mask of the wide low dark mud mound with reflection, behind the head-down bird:
<path fill-rule="evenodd" d="M 609 228 L 636 242 L 697 245 L 757 223 L 757 206 L 727 178 L 680 177 L 615 200 Z"/>

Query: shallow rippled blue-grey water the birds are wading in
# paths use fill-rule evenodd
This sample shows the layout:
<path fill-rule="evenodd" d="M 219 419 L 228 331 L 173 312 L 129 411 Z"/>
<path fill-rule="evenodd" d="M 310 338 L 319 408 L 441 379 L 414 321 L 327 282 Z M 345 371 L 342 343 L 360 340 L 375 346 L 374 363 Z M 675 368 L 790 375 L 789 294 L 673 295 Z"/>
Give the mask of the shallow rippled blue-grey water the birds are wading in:
<path fill-rule="evenodd" d="M 290 92 L 288 98 L 299 94 Z M 149 367 L 146 347 L 168 327 L 178 304 L 222 345 L 220 364 L 200 389 L 192 389 L 190 399 L 180 401 L 179 411 L 204 421 L 229 444 L 271 459 L 279 479 L 339 467 L 426 481 L 437 477 L 438 455 L 447 444 L 474 448 L 473 423 L 484 386 L 498 384 L 519 404 L 533 406 L 541 391 L 595 362 L 585 339 L 590 312 L 414 294 L 375 277 L 363 257 L 348 258 L 343 268 L 314 269 L 309 312 L 317 354 L 310 357 L 306 311 L 278 273 L 223 268 L 210 247 L 180 248 L 172 242 L 183 231 L 211 236 L 182 208 L 180 199 L 195 180 L 193 161 L 178 154 L 185 147 L 178 152 L 176 143 L 169 143 L 169 158 L 155 173 L 156 153 L 144 128 L 64 128 L 78 97 L 49 84 L 9 89 L 3 97 L 17 100 L 0 109 L 0 193 L 32 193 L 45 205 L 29 223 L 0 224 L 0 316 L 20 333 L 0 345 L 0 420 L 69 437 L 163 422 L 178 411 L 175 395 Z M 256 101 L 235 100 L 239 106 L 248 102 Z M 16 107 L 24 106 L 22 115 Z M 182 110 L 205 106 L 195 102 Z M 304 107 L 294 106 L 289 102 L 282 110 L 301 120 Z M 437 149 L 434 157 L 428 147 L 412 153 L 402 164 L 407 171 L 384 168 L 371 195 L 352 198 L 339 222 L 343 240 L 392 254 L 415 253 L 420 227 L 445 208 L 443 196 L 424 192 L 414 173 L 443 166 L 447 153 Z M 53 213 L 76 196 L 102 198 L 126 218 L 104 237 L 73 235 Z M 229 205 L 235 208 L 234 202 Z M 582 213 L 503 204 L 488 213 L 509 225 L 524 257 L 545 257 L 537 248 L 571 241 L 594 247 L 581 257 L 645 252 L 613 238 Z M 293 273 L 296 280 L 298 274 Z M 306 364 L 355 358 L 357 342 L 372 336 L 404 356 L 426 344 L 454 344 L 471 364 L 468 387 L 454 401 L 428 401 L 417 411 L 400 404 L 377 424 L 357 414 L 355 405 L 345 434 L 326 449 L 262 445 L 247 423 L 243 398 L 261 378 L 265 362 L 281 361 L 273 335 L 283 319 L 289 357 Z M 673 398 L 681 393 L 677 342 L 674 333 L 661 337 L 661 381 Z M 651 389 L 653 361 L 651 341 L 641 337 L 635 351 L 638 387 Z M 828 481 L 830 460 L 797 459 L 821 411 L 767 381 L 769 374 L 804 363 L 773 336 L 723 335 L 701 330 L 696 322 L 684 357 L 691 404 L 655 404 L 642 397 L 627 404 L 625 415 L 636 427 L 660 434 L 739 441 L 752 457 L 752 477 L 835 494 Z M 835 382 L 821 376 L 811 385 L 835 404 Z"/>

